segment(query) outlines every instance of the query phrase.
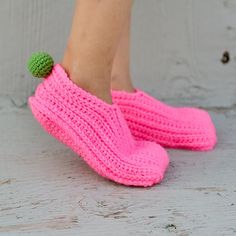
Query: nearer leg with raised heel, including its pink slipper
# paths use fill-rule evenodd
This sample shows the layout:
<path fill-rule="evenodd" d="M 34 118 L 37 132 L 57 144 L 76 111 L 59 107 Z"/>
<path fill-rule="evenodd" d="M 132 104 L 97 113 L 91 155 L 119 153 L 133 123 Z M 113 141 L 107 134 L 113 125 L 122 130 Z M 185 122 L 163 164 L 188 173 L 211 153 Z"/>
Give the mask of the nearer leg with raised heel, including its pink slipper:
<path fill-rule="evenodd" d="M 29 104 L 42 127 L 98 174 L 151 186 L 164 177 L 166 151 L 136 141 L 117 104 L 108 104 L 113 58 L 131 5 L 131 0 L 77 0 L 62 63 L 54 65 Z"/>

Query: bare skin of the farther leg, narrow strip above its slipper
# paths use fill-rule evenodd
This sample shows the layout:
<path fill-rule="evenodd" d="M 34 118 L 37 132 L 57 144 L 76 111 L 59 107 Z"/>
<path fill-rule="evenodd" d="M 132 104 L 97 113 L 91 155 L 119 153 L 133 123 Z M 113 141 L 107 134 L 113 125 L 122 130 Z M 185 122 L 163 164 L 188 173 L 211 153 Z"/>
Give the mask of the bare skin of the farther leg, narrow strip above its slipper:
<path fill-rule="evenodd" d="M 113 90 L 134 91 L 130 76 L 130 25 L 131 12 L 122 32 L 112 66 L 111 87 Z"/>

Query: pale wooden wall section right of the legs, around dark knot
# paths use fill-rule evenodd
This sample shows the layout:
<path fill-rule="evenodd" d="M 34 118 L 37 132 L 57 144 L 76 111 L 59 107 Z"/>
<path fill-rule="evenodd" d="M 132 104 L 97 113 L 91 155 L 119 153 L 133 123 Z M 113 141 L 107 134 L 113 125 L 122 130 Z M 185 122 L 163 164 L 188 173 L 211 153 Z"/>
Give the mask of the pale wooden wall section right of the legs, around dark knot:
<path fill-rule="evenodd" d="M 152 8 L 144 2 L 140 5 L 135 13 L 139 25 L 133 31 L 134 41 L 139 41 L 133 50 L 138 84 L 175 104 L 234 106 L 235 1 L 167 0 L 153 1 Z M 227 64 L 221 62 L 224 51 L 230 54 Z"/>

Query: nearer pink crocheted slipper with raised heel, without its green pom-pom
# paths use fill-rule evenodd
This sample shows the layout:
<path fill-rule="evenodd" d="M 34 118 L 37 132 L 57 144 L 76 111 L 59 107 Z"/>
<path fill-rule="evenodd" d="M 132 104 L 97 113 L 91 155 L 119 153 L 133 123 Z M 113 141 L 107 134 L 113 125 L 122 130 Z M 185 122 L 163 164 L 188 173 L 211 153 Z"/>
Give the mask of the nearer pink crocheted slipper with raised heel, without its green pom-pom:
<path fill-rule="evenodd" d="M 135 141 L 119 107 L 79 88 L 59 64 L 29 104 L 43 128 L 101 176 L 132 186 L 163 179 L 169 163 L 166 151 L 153 142 Z"/>

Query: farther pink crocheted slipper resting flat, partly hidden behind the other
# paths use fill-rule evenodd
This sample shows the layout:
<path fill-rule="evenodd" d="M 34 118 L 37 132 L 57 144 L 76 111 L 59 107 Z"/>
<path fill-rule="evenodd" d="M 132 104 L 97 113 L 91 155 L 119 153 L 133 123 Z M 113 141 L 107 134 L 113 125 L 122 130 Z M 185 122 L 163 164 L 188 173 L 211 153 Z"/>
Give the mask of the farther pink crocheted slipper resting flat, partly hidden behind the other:
<path fill-rule="evenodd" d="M 168 106 L 145 92 L 112 91 L 131 133 L 165 147 L 210 150 L 216 144 L 216 131 L 209 114 L 197 108 Z"/>

